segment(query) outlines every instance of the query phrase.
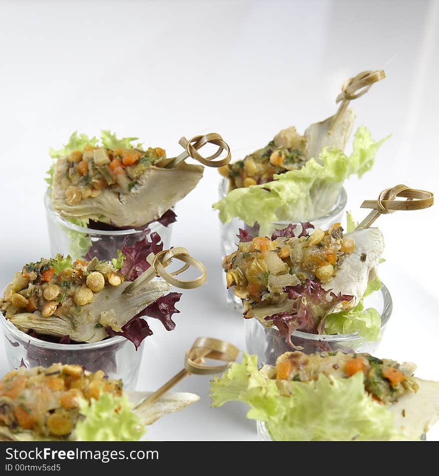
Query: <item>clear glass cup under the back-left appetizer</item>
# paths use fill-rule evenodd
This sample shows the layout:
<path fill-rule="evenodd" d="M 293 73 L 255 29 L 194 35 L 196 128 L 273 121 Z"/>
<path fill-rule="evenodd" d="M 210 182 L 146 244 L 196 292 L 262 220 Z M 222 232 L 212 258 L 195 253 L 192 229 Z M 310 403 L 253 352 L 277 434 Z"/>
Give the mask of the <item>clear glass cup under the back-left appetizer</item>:
<path fill-rule="evenodd" d="M 171 247 L 172 224 L 166 227 L 161 223 L 153 222 L 145 228 L 115 231 L 93 230 L 74 225 L 53 210 L 48 191 L 44 196 L 44 206 L 50 251 L 53 256 L 56 253 L 61 253 L 63 255 L 69 254 L 72 258 L 85 258 L 85 255 L 90 252 L 92 256 L 108 261 L 116 256 L 117 250 L 122 247 L 125 239 L 127 239 L 127 244 L 132 246 L 136 241 L 143 239 L 145 235 L 149 236 L 153 232 L 157 232 L 161 236 L 164 249 Z M 174 210 L 174 208 L 172 209 Z"/>

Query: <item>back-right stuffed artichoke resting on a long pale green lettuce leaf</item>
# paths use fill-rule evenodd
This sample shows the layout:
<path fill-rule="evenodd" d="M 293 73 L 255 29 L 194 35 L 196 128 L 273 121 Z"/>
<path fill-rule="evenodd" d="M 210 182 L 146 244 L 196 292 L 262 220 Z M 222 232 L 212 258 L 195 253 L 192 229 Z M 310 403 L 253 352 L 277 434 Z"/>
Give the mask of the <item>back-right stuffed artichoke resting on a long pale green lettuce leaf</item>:
<path fill-rule="evenodd" d="M 372 82 L 380 80 L 384 72 L 370 72 L 370 77 Z M 363 80 L 364 73 L 352 78 L 353 83 L 359 81 L 357 86 Z M 237 217 L 250 227 L 257 223 L 260 235 L 268 235 L 273 223 L 312 220 L 331 212 L 344 180 L 369 171 L 386 140 L 374 141 L 361 126 L 354 135 L 352 154 L 346 155 L 354 120 L 351 109 L 340 108 L 311 124 L 303 135 L 291 126 L 244 159 L 221 167 L 229 189 L 213 207 L 222 223 Z"/>

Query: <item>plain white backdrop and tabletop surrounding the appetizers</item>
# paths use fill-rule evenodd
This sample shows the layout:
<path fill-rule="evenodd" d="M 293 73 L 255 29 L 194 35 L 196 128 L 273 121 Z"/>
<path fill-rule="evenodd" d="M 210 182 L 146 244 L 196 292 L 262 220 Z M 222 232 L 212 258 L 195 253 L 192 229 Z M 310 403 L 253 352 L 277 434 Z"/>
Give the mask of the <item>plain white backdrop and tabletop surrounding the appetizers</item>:
<path fill-rule="evenodd" d="M 15 1 L 0 2 L 1 274 L 4 287 L 28 261 L 49 255 L 43 208 L 49 147 L 74 131 L 111 129 L 180 152 L 182 135 L 219 132 L 233 159 L 280 129 L 301 132 L 332 115 L 344 80 L 384 68 L 387 79 L 353 107 L 356 125 L 392 137 L 372 172 L 345 184 L 348 209 L 386 187 L 438 185 L 439 2 L 432 1 Z M 350 146 L 348 147 L 350 151 Z M 208 270 L 185 292 L 167 332 L 145 341 L 139 389 L 155 390 L 183 365 L 199 335 L 244 348 L 242 318 L 224 303 L 218 172 L 208 169 L 178 205 L 173 243 Z M 438 206 L 382 216 L 380 276 L 394 313 L 380 356 L 411 360 L 439 380 Z M 7 370 L 0 344 L 0 374 Z M 167 416 L 150 439 L 255 439 L 241 404 L 210 409 L 209 377 L 181 391 L 201 400 Z M 429 440 L 439 439 L 439 425 Z"/>

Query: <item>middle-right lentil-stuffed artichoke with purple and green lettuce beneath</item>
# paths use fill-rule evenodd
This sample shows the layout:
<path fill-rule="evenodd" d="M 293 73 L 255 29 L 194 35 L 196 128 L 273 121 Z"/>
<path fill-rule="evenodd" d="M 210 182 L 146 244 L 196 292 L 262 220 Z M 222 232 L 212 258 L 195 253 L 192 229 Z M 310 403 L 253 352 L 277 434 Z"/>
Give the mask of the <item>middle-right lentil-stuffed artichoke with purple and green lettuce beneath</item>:
<path fill-rule="evenodd" d="M 240 230 L 237 250 L 224 257 L 227 288 L 242 300 L 244 317 L 276 325 L 290 344 L 294 330 L 325 333 L 329 324 L 329 333 L 339 333 L 334 330 L 340 325 L 334 323 L 340 320 L 358 323 L 351 332 L 378 338 L 380 316 L 367 310 L 365 326 L 362 300 L 381 287 L 375 273 L 384 250 L 381 231 L 344 234 L 335 223 L 310 233 L 314 227 L 303 223 L 295 236 L 295 228 L 276 230 L 271 239 L 252 238 Z"/>

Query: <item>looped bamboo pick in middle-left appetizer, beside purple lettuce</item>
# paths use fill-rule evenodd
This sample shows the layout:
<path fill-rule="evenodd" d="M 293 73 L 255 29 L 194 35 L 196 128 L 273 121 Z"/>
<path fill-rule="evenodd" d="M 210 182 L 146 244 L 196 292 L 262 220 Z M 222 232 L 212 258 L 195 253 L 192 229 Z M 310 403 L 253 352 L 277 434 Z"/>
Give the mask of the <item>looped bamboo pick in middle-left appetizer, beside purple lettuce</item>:
<path fill-rule="evenodd" d="M 165 267 L 171 264 L 173 259 L 183 261 L 185 264 L 177 271 L 168 273 Z M 207 274 L 204 264 L 193 258 L 186 248 L 171 248 L 169 250 L 160 251 L 156 255 L 154 253 L 150 253 L 146 257 L 146 260 L 151 265 L 151 267 L 142 273 L 138 278 L 136 278 L 132 283 L 130 283 L 122 292 L 122 294 L 133 293 L 140 286 L 143 286 L 144 284 L 151 281 L 155 276 L 160 276 L 172 286 L 182 289 L 194 289 L 206 283 Z M 188 281 L 175 278 L 175 276 L 183 273 L 183 271 L 186 271 L 190 266 L 193 266 L 194 268 L 197 268 L 199 271 L 201 271 L 201 275 L 198 278 Z"/>

